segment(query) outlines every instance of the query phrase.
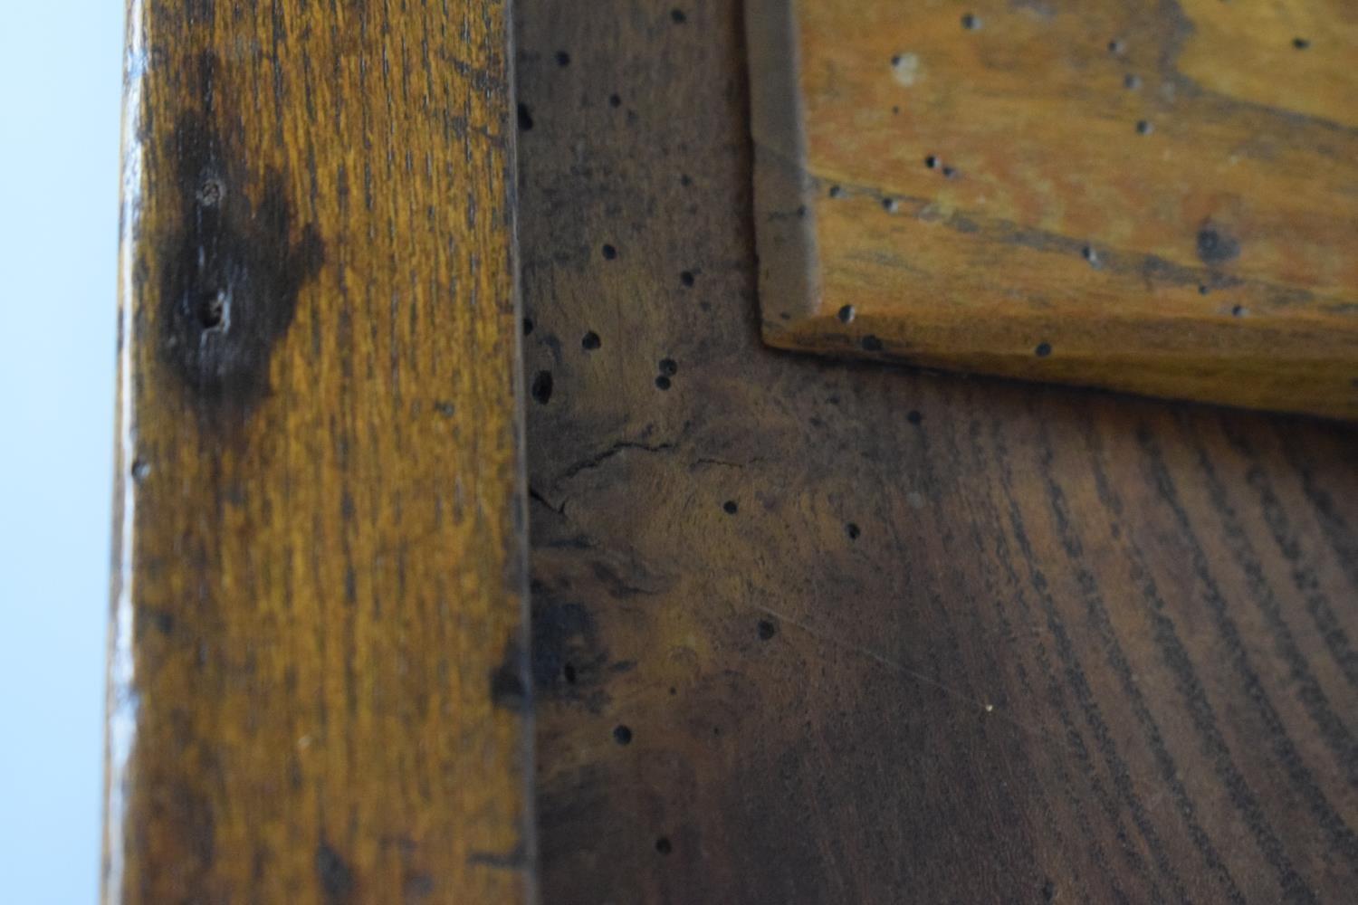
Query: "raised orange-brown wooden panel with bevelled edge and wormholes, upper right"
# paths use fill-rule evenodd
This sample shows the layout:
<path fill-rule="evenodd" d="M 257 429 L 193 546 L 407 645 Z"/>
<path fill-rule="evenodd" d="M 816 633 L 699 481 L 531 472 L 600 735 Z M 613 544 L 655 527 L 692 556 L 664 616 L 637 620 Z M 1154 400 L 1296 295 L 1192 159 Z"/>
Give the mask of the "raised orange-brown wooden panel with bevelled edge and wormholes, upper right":
<path fill-rule="evenodd" d="M 1358 418 L 1344 0 L 754 0 L 775 346 Z"/>

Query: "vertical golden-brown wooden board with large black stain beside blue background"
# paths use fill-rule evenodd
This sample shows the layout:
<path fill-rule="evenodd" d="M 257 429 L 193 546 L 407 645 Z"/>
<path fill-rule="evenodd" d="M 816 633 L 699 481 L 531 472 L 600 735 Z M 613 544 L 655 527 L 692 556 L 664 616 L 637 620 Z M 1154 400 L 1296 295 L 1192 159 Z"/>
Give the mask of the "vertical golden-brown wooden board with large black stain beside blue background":
<path fill-rule="evenodd" d="M 532 900 L 505 16 L 132 3 L 109 902 Z"/>

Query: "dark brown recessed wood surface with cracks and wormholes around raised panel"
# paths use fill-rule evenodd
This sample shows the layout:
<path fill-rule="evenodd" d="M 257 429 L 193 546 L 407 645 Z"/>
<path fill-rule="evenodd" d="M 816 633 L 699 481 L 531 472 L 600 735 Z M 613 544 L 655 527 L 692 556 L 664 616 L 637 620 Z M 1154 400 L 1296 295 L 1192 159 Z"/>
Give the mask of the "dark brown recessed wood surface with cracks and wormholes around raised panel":
<path fill-rule="evenodd" d="M 516 42 L 542 900 L 1348 901 L 1354 429 L 770 350 L 740 4 Z"/>

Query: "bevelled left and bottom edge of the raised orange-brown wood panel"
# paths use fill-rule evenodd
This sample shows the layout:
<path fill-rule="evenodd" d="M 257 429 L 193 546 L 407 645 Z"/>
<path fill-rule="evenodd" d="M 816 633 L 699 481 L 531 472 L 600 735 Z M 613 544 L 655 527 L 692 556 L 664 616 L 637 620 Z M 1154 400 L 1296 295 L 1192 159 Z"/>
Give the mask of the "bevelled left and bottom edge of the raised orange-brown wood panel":
<path fill-rule="evenodd" d="M 831 180 L 811 168 L 805 102 L 800 85 L 800 24 L 797 0 L 747 0 L 746 41 L 750 73 L 751 144 L 754 148 L 754 212 L 758 251 L 760 334 L 775 349 L 831 358 L 849 358 L 1179 399 L 1243 410 L 1358 419 L 1358 374 L 1350 392 L 1334 389 L 1332 376 L 1350 362 L 1293 357 L 1277 362 L 1266 384 L 1248 361 L 1229 358 L 1186 362 L 1175 354 L 1141 351 L 1109 366 L 1108 358 L 1038 361 L 1032 350 L 972 345 L 956 353 L 917 351 L 903 345 L 909 323 L 894 320 L 880 330 L 854 323 L 853 305 L 824 308 L 822 265 L 816 237 L 818 205 L 835 191 Z M 999 319 L 989 315 L 989 324 Z M 1175 320 L 1149 324 L 1173 331 Z M 1283 324 L 1289 331 L 1305 324 Z M 1014 332 L 1040 332 L 1031 319 L 1012 320 Z M 1294 347 L 1305 343 L 1293 341 Z M 1153 347 L 1153 339 L 1145 346 Z M 1270 354 L 1277 355 L 1277 346 Z M 1116 350 L 1122 353 L 1123 350 Z M 1042 351 L 1038 358 L 1043 358 Z M 1126 358 L 1126 355 L 1122 355 Z M 1111 355 L 1116 361 L 1118 355 Z M 1275 364 L 1270 361 L 1268 364 Z M 1236 380 L 1229 376 L 1237 374 Z M 1298 389 L 1304 387 L 1304 389 Z"/>

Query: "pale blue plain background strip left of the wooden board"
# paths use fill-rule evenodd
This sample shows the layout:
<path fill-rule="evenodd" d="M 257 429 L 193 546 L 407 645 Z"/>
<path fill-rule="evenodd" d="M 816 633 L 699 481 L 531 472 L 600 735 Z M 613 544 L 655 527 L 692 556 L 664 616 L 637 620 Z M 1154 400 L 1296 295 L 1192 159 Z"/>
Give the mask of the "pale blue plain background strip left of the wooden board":
<path fill-rule="evenodd" d="M 0 900 L 98 894 L 120 0 L 0 9 Z"/>

